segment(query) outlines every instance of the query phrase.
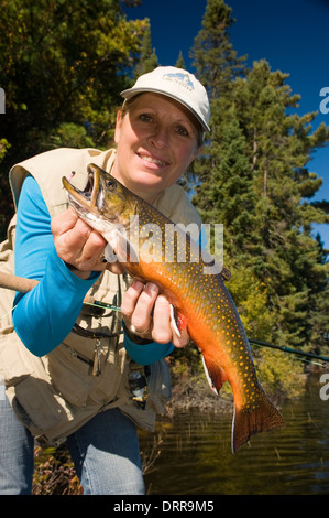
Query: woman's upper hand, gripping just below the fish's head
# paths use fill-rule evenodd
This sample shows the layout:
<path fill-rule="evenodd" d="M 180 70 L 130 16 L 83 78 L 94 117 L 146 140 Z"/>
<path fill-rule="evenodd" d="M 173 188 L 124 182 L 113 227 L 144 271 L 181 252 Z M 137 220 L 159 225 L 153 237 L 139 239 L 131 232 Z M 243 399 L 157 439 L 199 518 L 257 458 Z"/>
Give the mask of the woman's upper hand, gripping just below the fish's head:
<path fill-rule="evenodd" d="M 88 279 L 91 271 L 109 269 L 112 273 L 122 273 L 119 261 L 103 262 L 107 241 L 103 237 L 68 208 L 52 219 L 57 255 L 80 279 Z"/>

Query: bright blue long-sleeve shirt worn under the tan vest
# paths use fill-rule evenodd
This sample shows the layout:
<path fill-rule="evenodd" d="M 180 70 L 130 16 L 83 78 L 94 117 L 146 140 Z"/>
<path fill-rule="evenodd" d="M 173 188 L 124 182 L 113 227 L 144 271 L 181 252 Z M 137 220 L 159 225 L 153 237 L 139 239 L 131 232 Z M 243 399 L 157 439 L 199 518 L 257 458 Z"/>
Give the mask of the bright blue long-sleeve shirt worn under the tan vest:
<path fill-rule="evenodd" d="M 31 353 L 44 356 L 72 331 L 87 291 L 99 277 L 79 279 L 59 259 L 51 230 L 51 215 L 37 182 L 28 176 L 18 206 L 15 274 L 39 280 L 30 292 L 18 293 L 13 311 L 14 328 Z M 152 364 L 174 349 L 172 343 L 138 345 L 124 336 L 131 358 Z"/>

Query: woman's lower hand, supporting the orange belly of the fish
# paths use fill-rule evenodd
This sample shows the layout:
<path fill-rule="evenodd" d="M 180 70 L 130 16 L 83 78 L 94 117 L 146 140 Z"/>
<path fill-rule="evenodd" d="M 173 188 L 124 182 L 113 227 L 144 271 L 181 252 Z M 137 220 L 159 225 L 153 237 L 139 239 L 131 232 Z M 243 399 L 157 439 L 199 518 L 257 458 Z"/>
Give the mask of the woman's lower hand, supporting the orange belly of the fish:
<path fill-rule="evenodd" d="M 176 347 L 184 347 L 189 342 L 187 330 L 180 337 L 171 324 L 171 305 L 158 288 L 152 282 L 143 284 L 134 281 L 123 296 L 121 314 L 127 328 L 136 336 L 152 339 L 160 344 L 172 342 Z"/>

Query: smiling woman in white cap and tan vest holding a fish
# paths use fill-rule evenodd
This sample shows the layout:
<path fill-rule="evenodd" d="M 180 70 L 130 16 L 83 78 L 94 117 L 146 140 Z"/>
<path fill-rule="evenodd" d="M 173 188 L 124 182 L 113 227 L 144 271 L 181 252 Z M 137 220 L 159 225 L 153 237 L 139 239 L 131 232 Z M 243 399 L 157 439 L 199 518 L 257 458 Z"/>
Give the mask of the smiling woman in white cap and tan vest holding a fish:
<path fill-rule="evenodd" d="M 153 429 L 169 397 L 163 358 L 188 334 L 175 334 L 155 284 L 130 285 L 120 263 L 103 262 L 106 241 L 67 208 L 61 179 L 75 171 L 83 187 L 94 162 L 175 223 L 200 225 L 176 182 L 209 130 L 209 102 L 175 67 L 141 76 L 122 96 L 117 150 L 55 150 L 11 171 L 15 274 L 40 282 L 17 295 L 14 331 L 2 336 L 11 404 L 0 401 L 0 494 L 31 492 L 34 438 L 66 441 L 85 494 L 144 493 L 135 425 Z M 121 315 L 84 304 L 86 294 Z M 146 384 L 147 399 L 136 398 Z"/>

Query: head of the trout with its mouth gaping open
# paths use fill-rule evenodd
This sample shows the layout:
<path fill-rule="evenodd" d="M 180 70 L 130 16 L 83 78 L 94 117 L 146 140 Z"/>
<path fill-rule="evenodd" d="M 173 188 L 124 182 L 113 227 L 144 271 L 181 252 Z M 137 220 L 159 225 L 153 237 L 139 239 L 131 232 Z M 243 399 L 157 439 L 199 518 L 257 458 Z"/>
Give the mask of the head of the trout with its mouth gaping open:
<path fill-rule="evenodd" d="M 105 235 L 111 228 L 128 228 L 136 213 L 133 193 L 95 164 L 87 168 L 88 180 L 81 191 L 65 176 L 62 179 L 69 205 L 88 225 Z"/>

